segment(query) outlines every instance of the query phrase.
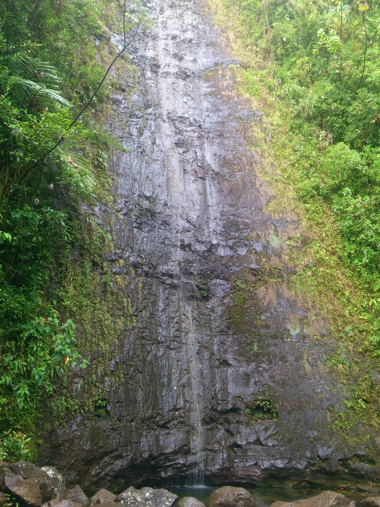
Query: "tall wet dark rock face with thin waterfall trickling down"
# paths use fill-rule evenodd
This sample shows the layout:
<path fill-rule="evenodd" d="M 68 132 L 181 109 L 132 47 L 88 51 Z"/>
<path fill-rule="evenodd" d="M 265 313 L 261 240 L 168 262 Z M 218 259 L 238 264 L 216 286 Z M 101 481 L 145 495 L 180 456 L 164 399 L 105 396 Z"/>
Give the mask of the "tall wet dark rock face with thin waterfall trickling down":
<path fill-rule="evenodd" d="M 264 211 L 271 196 L 247 147 L 260 114 L 236 97 L 234 62 L 198 0 L 148 7 L 154 26 L 131 49 L 137 90 L 115 92 L 110 124 L 131 153 L 111 168 L 109 262 L 136 325 L 106 365 L 106 415 L 56 429 L 51 462 L 84 487 L 119 490 L 257 484 L 327 459 L 338 471 L 368 442 L 328 429 L 344 395 L 325 364 L 328 324 L 286 285 L 285 240 L 299 229 Z"/>

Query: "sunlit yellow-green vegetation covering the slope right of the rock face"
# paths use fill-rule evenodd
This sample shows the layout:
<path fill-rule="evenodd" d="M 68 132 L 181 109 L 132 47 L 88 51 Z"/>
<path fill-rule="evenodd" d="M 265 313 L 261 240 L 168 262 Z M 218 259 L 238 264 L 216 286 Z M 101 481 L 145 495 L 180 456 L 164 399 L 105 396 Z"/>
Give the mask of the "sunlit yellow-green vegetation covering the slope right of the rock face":
<path fill-rule="evenodd" d="M 330 322 L 336 352 L 327 363 L 347 384 L 345 410 L 331 408 L 331 427 L 342 434 L 362 423 L 376 428 L 378 4 L 211 0 L 210 6 L 240 60 L 232 67 L 237 89 L 263 113 L 251 125 L 251 144 L 276 194 L 267 209 L 276 218 L 300 217 L 303 233 L 284 234 L 281 264 L 292 268 L 292 294 Z M 239 325 L 245 297 L 246 291 L 234 295 Z"/>

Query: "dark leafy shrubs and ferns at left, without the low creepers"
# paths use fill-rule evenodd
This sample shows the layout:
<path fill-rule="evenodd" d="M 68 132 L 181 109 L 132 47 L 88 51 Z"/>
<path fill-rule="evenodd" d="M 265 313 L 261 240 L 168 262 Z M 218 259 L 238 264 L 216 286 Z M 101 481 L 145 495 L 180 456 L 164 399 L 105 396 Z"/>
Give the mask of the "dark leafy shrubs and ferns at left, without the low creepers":
<path fill-rule="evenodd" d="M 62 267 L 75 245 L 99 268 L 107 242 L 81 203 L 107 198 L 106 150 L 117 143 L 90 114 L 75 120 L 102 98 L 93 94 L 104 76 L 95 58 L 103 8 L 0 3 L 0 461 L 30 457 L 24 432 L 37 408 L 64 408 L 66 372 L 87 365 L 74 322 L 60 317 Z"/>

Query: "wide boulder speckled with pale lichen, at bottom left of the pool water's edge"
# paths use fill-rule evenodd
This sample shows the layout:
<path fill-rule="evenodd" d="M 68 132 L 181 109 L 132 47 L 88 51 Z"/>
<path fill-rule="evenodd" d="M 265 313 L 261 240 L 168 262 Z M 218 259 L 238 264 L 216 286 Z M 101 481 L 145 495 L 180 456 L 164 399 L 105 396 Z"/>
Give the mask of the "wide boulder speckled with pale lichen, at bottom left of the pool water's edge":
<path fill-rule="evenodd" d="M 120 493 L 115 501 L 122 502 L 128 507 L 170 507 L 177 498 L 177 495 L 173 495 L 167 489 L 135 489 L 131 486 Z"/>

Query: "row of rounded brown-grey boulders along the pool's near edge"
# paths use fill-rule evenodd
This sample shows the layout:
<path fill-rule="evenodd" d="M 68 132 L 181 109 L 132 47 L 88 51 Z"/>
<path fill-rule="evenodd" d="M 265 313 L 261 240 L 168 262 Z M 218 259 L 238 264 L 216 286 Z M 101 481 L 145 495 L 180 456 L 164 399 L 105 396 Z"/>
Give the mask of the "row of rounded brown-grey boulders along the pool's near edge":
<path fill-rule="evenodd" d="M 0 466 L 0 507 L 205 507 L 197 498 L 177 495 L 166 489 L 144 487 L 116 495 L 100 489 L 90 498 L 79 485 L 66 488 L 65 480 L 52 466 L 38 467 L 27 461 Z M 210 495 L 208 507 L 255 507 L 244 488 L 223 486 Z M 271 507 L 356 507 L 344 495 L 324 491 L 318 496 L 295 502 L 277 501 Z M 368 497 L 359 507 L 380 507 L 380 496 Z"/>

